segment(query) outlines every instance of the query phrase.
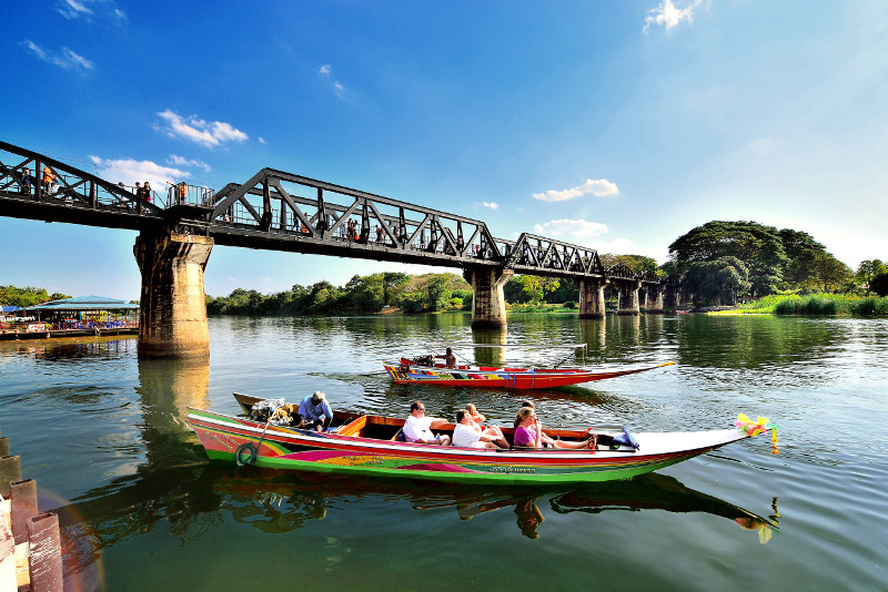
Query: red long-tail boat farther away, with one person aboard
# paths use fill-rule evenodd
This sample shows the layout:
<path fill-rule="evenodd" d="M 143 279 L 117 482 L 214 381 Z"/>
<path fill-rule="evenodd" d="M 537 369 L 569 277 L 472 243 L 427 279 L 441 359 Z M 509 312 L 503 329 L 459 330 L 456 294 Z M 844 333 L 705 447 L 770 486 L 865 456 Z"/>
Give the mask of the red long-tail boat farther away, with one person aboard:
<path fill-rule="evenodd" d="M 508 388 L 534 389 L 579 385 L 606 378 L 616 378 L 630 374 L 645 372 L 674 361 L 644 367 L 614 367 L 596 370 L 584 368 L 496 368 L 493 366 L 473 366 L 457 364 L 447 368 L 444 364 L 435 364 L 431 356 L 413 359 L 401 358 L 398 361 L 383 361 L 389 376 L 397 385 L 435 385 L 461 388 Z"/>

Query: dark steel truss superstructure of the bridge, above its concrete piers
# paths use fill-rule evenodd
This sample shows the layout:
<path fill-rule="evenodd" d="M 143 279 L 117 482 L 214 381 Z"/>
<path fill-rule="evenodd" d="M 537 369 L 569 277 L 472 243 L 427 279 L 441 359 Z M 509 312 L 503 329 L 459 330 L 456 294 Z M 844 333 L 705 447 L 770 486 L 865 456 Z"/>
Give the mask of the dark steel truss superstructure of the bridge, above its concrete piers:
<path fill-rule="evenodd" d="M 43 183 L 44 167 L 54 171 Z M 27 172 L 26 172 L 27 171 Z M 27 180 L 24 177 L 28 177 Z M 443 267 L 483 266 L 562 278 L 662 284 L 653 272 L 605 269 L 595 249 L 523 233 L 497 238 L 480 221 L 263 169 L 220 191 L 132 187 L 0 141 L 0 215 L 210 236 L 214 244 Z M 150 197 L 150 198 L 147 198 Z"/>

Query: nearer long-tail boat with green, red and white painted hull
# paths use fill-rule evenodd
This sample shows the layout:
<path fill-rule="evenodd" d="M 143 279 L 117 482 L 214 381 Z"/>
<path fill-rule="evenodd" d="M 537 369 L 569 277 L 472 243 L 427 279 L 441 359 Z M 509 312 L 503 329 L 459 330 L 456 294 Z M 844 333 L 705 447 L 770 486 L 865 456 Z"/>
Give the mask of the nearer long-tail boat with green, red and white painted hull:
<path fill-rule="evenodd" d="M 188 420 L 214 460 L 303 471 L 504 484 L 578 483 L 627 479 L 703 455 L 774 428 L 767 419 L 737 429 L 638 432 L 622 429 L 547 429 L 565 441 L 597 443 L 589 449 L 478 449 L 401 441 L 404 419 L 335 411 L 329 431 L 316 432 L 252 419 L 261 399 L 235 394 L 245 416 L 189 408 Z M 741 416 L 745 418 L 745 416 Z M 763 422 L 764 421 L 764 422 Z M 454 425 L 437 426 L 452 435 Z M 513 428 L 502 428 L 511 442 Z"/>

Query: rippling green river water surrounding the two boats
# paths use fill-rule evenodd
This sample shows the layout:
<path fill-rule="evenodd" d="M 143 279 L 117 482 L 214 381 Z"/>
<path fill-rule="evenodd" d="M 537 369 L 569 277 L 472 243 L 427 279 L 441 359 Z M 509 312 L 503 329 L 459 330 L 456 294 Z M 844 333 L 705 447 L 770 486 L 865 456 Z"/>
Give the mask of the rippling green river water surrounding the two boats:
<path fill-rule="evenodd" d="M 463 314 L 212 318 L 209 364 L 137 359 L 134 339 L 0 344 L 0 430 L 60 514 L 70 590 L 886 590 L 888 321 Z M 508 392 L 392 385 L 381 359 L 453 341 L 544 366 L 676 361 L 586 386 Z M 471 357 L 472 350 L 461 351 Z M 474 402 L 511 422 L 720 429 L 767 437 L 629 481 L 497 489 L 210 465 L 189 406 L 232 391 L 406 416 Z"/>

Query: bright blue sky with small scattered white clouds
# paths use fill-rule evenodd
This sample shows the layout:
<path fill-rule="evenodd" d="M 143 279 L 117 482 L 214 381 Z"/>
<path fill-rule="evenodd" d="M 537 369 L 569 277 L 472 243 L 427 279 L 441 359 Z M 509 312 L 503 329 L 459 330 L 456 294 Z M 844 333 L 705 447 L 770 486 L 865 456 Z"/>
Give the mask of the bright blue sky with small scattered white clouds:
<path fill-rule="evenodd" d="M 888 3 L 6 2 L 0 137 L 128 184 L 264 166 L 666 259 L 713 220 L 888 259 Z M 139 295 L 135 234 L 0 217 L 0 284 Z M 209 294 L 423 267 L 215 247 Z"/>

